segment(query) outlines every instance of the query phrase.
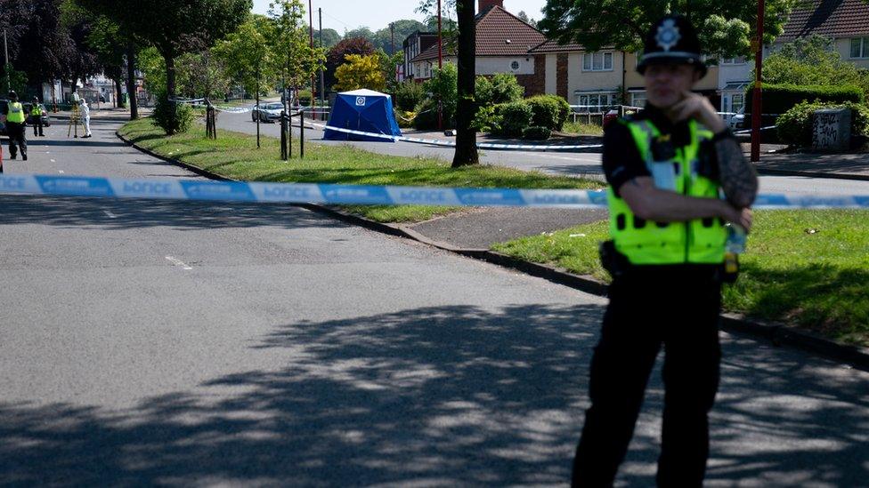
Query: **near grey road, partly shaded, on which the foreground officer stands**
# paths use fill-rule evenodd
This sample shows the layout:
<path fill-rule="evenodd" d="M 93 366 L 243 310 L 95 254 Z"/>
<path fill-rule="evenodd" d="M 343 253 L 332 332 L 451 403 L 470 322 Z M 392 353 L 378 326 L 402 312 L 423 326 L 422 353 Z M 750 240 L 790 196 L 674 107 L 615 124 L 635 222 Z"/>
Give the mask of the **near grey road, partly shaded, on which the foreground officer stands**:
<path fill-rule="evenodd" d="M 62 127 L 7 172 L 197 178 Z M 0 197 L 0 485 L 564 485 L 605 300 L 286 205 Z M 709 486 L 865 486 L 869 373 L 723 335 Z M 660 369 L 620 486 L 654 484 Z"/>

